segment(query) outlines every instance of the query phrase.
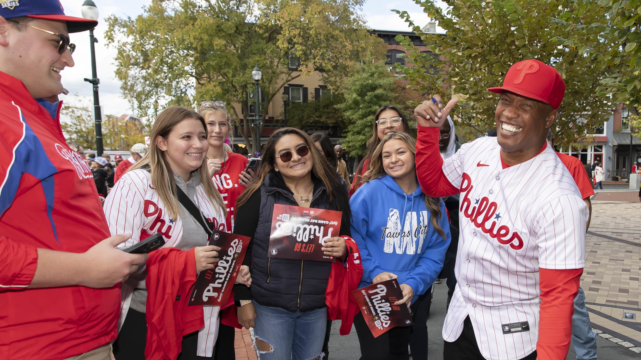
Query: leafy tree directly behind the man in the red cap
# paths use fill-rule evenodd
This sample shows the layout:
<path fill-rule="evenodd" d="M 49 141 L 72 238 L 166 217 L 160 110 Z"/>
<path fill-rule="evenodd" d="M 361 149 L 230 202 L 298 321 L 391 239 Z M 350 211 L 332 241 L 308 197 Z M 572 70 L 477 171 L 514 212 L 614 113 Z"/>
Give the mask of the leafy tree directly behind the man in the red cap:
<path fill-rule="evenodd" d="M 495 127 L 497 96 L 487 88 L 501 85 L 510 65 L 530 58 L 553 65 L 565 81 L 565 98 L 554 129 L 559 145 L 576 143 L 586 130 L 606 120 L 609 99 L 594 95 L 606 74 L 593 64 L 608 44 L 586 36 L 582 40 L 592 44 L 594 51 L 562 47 L 555 39 L 569 37 L 570 30 L 549 20 L 576 13 L 585 22 L 595 22 L 603 18 L 598 1 L 444 2 L 447 10 L 432 0 L 415 1 L 447 31 L 446 36 L 423 33 L 407 12 L 395 10 L 431 50 L 431 54 L 420 53 L 408 37 L 397 37 L 408 53 L 408 66 L 399 70 L 419 92 L 456 94 L 460 102 L 454 108 L 454 119 L 462 125 L 459 129 L 465 129 L 466 138 Z M 438 71 L 429 71 L 431 66 Z"/>

